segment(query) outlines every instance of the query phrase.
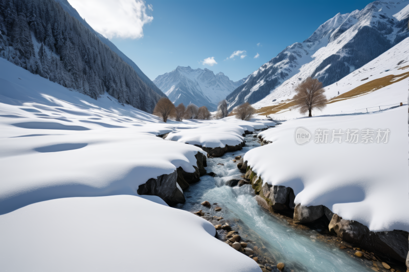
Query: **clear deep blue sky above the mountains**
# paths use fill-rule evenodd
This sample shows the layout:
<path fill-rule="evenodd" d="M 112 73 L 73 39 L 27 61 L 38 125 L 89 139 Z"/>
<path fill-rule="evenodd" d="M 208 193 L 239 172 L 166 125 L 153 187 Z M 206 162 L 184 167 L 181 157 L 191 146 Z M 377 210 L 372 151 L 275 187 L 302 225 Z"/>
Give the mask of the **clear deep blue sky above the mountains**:
<path fill-rule="evenodd" d="M 90 16 L 97 14 L 107 18 L 111 14 L 104 10 L 96 12 L 90 8 L 80 9 L 75 0 L 69 2 L 97 31 L 98 22 L 90 21 Z M 363 9 L 369 3 L 368 0 L 147 0 L 146 16 L 142 24 L 143 37 L 139 35 L 136 39 L 108 38 L 151 80 L 179 65 L 206 67 L 215 73 L 221 71 L 231 80 L 237 81 L 275 57 L 286 46 L 308 38 L 320 24 L 338 12 L 343 14 Z M 125 21 L 118 28 L 124 30 L 128 26 L 131 28 L 136 25 L 138 21 Z M 245 51 L 240 55 L 246 56 L 229 58 L 235 51 Z M 259 54 L 258 58 L 254 58 L 256 54 Z M 214 57 L 217 64 L 203 65 L 202 61 L 210 57 Z"/>

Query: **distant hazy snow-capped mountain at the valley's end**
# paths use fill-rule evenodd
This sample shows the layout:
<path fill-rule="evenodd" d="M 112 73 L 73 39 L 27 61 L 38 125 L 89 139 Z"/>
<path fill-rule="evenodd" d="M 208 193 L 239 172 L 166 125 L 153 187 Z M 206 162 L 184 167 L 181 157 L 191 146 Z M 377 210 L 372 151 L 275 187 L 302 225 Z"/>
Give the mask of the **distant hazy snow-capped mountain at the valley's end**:
<path fill-rule="evenodd" d="M 216 75 L 213 71 L 205 69 L 192 69 L 190 66 L 177 66 L 171 72 L 158 76 L 153 83 L 156 84 L 175 104 L 194 103 L 197 106 L 206 106 L 216 110 L 217 103 L 223 100 L 234 89 L 239 87 L 245 79 L 232 81 L 224 73 Z"/>

